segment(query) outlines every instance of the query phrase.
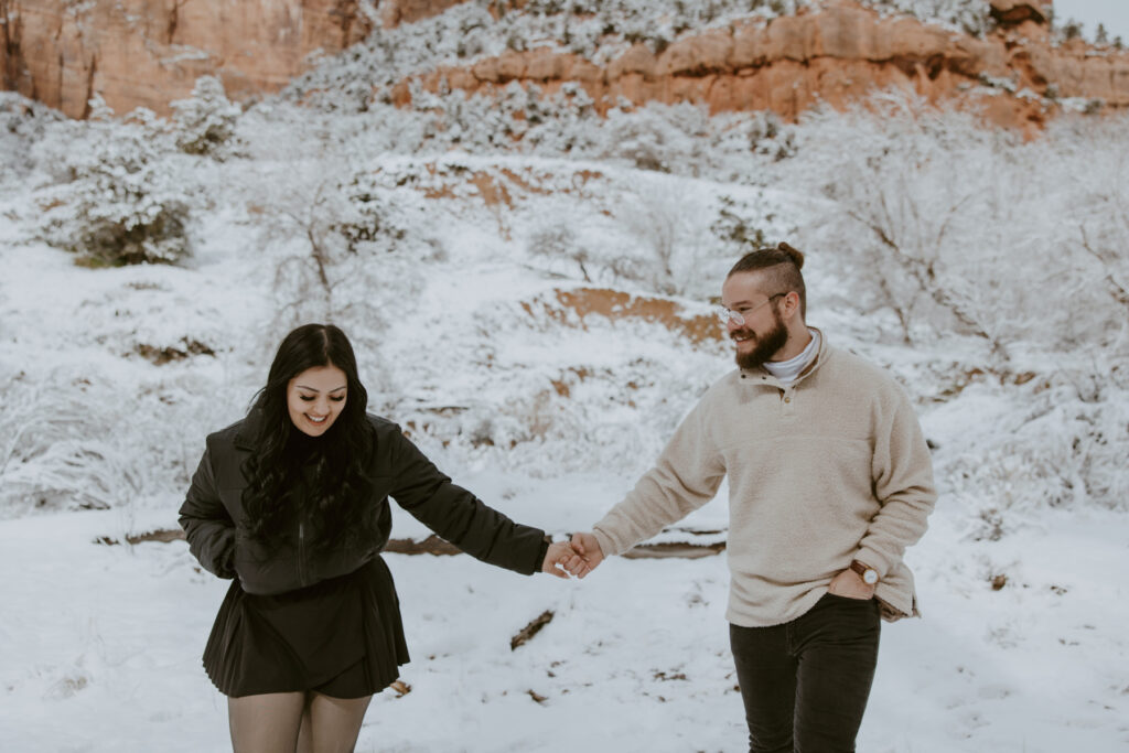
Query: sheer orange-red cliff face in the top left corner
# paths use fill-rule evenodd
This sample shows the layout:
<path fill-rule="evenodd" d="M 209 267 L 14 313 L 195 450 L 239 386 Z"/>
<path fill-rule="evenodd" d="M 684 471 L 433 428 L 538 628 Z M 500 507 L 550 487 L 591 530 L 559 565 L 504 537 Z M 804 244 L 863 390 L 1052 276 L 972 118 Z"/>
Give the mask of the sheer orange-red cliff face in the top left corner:
<path fill-rule="evenodd" d="M 5 89 L 71 117 L 96 93 L 119 113 L 165 114 L 200 76 L 248 99 L 371 28 L 358 0 L 0 0 L 0 72 Z"/>

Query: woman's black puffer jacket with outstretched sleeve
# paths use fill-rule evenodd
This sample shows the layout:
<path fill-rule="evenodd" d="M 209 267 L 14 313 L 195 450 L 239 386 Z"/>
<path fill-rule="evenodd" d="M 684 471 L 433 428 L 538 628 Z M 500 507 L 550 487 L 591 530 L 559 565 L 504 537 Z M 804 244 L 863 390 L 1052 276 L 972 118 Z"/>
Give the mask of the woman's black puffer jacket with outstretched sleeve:
<path fill-rule="evenodd" d="M 377 535 L 360 546 L 325 551 L 310 541 L 313 526 L 295 523 L 292 543 L 266 551 L 246 535 L 240 467 L 252 447 L 247 419 L 208 436 L 207 449 L 181 506 L 192 554 L 220 578 L 238 577 L 250 594 L 280 594 L 352 572 L 388 542 L 388 496 L 441 537 L 483 562 L 524 575 L 541 570 L 544 532 L 514 523 L 439 472 L 400 431 L 376 415 L 370 475 Z"/>

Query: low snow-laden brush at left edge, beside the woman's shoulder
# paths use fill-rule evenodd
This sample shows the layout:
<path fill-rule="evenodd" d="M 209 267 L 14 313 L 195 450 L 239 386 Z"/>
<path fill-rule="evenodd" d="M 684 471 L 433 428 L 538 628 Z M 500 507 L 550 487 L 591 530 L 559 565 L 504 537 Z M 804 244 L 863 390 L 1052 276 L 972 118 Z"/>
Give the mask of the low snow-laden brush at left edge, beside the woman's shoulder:
<path fill-rule="evenodd" d="M 222 392 L 207 379 L 138 385 L 95 368 L 7 371 L 0 377 L 0 518 L 129 510 L 154 496 L 183 493 L 201 439 L 229 420 L 234 395 Z M 201 394 L 213 399 L 201 403 Z"/>

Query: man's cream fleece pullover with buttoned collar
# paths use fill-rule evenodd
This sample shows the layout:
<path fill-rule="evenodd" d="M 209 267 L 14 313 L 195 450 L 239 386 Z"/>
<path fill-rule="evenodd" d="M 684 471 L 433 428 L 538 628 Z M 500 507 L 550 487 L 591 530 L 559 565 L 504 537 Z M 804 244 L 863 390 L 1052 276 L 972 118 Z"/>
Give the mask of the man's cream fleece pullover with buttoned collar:
<path fill-rule="evenodd" d="M 655 467 L 596 524 L 622 554 L 714 498 L 729 476 L 726 618 L 774 625 L 809 610 L 852 559 L 878 571 L 887 620 L 917 614 L 902 554 L 937 492 L 909 397 L 885 371 L 828 345 L 782 386 L 732 371 L 679 426 Z"/>

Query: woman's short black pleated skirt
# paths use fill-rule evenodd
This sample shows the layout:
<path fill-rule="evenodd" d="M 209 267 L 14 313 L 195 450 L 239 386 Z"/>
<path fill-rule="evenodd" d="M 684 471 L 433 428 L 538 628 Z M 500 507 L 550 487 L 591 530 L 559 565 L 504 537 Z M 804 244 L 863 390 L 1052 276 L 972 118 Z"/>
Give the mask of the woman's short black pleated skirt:
<path fill-rule="evenodd" d="M 204 671 L 225 695 L 315 690 L 361 698 L 408 664 L 400 599 L 379 557 L 307 588 L 259 596 L 236 579 L 204 648 Z"/>

